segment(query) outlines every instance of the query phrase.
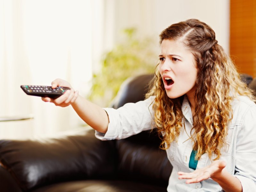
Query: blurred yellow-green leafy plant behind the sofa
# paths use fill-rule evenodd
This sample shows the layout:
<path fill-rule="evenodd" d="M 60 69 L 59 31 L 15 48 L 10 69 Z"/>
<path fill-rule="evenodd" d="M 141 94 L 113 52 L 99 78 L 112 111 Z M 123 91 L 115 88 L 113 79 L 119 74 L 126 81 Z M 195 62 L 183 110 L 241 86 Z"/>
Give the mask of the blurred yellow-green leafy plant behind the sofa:
<path fill-rule="evenodd" d="M 125 79 L 154 73 L 157 54 L 151 38 L 137 38 L 136 29 L 124 30 L 124 42 L 117 44 L 103 56 L 101 71 L 93 74 L 88 99 L 107 107 Z"/>

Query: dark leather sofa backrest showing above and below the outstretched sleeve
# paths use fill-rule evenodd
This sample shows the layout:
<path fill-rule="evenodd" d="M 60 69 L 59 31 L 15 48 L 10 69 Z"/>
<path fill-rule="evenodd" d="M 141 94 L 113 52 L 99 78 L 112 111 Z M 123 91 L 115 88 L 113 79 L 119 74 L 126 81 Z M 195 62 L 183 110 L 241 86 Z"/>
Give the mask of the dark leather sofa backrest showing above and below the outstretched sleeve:
<path fill-rule="evenodd" d="M 111 107 L 119 108 L 125 103 L 144 100 L 153 77 L 151 74 L 127 79 Z M 117 140 L 119 178 L 167 186 L 172 165 L 166 152 L 159 148 L 160 142 L 156 129 Z"/>

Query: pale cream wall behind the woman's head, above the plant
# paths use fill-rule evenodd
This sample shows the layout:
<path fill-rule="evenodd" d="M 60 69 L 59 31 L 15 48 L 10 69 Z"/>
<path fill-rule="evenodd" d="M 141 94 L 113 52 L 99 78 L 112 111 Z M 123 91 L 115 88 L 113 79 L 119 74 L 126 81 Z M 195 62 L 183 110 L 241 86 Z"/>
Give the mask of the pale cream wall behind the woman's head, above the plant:
<path fill-rule="evenodd" d="M 116 0 L 114 4 L 115 42 L 121 41 L 122 29 L 136 27 L 140 36 L 152 36 L 158 45 L 164 28 L 196 18 L 212 27 L 219 44 L 229 52 L 229 0 Z"/>

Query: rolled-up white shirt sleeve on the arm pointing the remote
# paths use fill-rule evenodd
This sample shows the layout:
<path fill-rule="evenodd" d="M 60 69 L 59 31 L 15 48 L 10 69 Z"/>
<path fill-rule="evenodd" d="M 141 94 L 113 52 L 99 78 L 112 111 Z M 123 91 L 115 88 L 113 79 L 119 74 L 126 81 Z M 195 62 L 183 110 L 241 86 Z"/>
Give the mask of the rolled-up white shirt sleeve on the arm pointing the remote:
<path fill-rule="evenodd" d="M 154 128 L 154 111 L 152 108 L 155 97 L 151 96 L 137 103 L 126 103 L 118 109 L 104 108 L 108 114 L 108 131 L 95 132 L 100 140 L 124 139 L 145 130 Z"/>

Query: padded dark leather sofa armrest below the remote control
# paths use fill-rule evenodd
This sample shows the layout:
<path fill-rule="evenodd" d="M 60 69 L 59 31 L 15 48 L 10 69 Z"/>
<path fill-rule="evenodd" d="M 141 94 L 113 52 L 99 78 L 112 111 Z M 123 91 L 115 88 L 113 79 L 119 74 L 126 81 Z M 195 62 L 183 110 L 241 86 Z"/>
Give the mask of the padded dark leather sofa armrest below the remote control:
<path fill-rule="evenodd" d="M 113 175 L 115 141 L 95 138 L 94 130 L 41 140 L 0 140 L 0 163 L 23 190 L 51 183 Z"/>

